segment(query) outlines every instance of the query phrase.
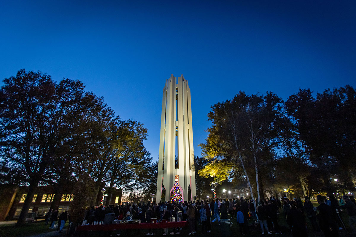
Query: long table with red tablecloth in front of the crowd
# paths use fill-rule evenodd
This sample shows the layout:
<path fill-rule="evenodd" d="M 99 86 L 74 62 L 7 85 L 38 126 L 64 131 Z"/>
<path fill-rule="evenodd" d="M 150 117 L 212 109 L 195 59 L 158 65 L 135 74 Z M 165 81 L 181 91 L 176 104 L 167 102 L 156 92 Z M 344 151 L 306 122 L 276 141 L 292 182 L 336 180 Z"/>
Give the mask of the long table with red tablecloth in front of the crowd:
<path fill-rule="evenodd" d="M 157 222 L 157 223 L 135 223 L 135 224 L 112 224 L 112 225 L 84 225 L 78 226 L 77 231 L 113 231 L 127 229 L 159 229 L 188 226 L 188 221 L 179 222 Z"/>

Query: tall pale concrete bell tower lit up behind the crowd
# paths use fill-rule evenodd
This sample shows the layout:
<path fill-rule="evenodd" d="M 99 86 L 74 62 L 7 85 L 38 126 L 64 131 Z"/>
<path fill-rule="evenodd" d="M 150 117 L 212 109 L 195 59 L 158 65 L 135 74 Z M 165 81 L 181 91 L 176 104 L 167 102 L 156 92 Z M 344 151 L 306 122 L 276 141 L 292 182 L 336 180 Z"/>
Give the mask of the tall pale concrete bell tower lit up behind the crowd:
<path fill-rule="evenodd" d="M 190 89 L 183 75 L 177 80 L 172 74 L 163 88 L 157 201 L 162 197 L 162 184 L 166 189 L 166 201 L 170 200 L 175 181 L 180 185 L 183 200 L 194 200 L 196 192 Z"/>

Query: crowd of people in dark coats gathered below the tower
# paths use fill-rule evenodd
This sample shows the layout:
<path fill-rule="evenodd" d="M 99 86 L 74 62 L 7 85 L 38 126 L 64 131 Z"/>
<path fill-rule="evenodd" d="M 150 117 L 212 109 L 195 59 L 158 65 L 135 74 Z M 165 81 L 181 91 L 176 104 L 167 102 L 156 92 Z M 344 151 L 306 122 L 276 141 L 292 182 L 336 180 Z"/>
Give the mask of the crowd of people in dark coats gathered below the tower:
<path fill-rule="evenodd" d="M 211 199 L 197 201 L 172 201 L 159 203 L 125 203 L 121 205 L 91 207 L 85 212 L 84 220 L 87 223 L 104 221 L 105 215 L 114 213 L 117 220 L 141 220 L 151 222 L 152 219 L 162 221 L 177 217 L 181 214 L 182 221 L 188 221 L 189 235 L 197 233 L 198 226 L 201 233 L 211 232 L 211 222 L 236 218 L 240 234 L 244 235 L 250 228 L 261 228 L 262 234 L 280 234 L 282 228 L 278 223 L 278 214 L 283 213 L 288 224 L 283 229 L 292 231 L 293 236 L 307 236 L 307 217 L 314 231 L 322 231 L 325 236 L 339 236 L 339 230 L 346 230 L 341 218 L 341 210 L 346 209 L 349 216 L 350 231 L 355 233 L 356 205 L 354 196 L 342 196 L 339 200 L 330 195 L 328 198 L 318 195 L 318 206 L 314 206 L 309 197 L 289 200 L 286 196 L 265 200 L 256 200 L 255 204 L 249 199 Z M 257 214 L 257 215 L 256 215 Z M 46 224 L 51 221 L 50 228 L 58 219 L 57 231 L 61 232 L 68 218 L 67 211 L 58 212 L 50 210 L 47 214 Z M 283 217 L 282 217 L 283 218 Z M 168 228 L 164 228 L 163 235 L 168 235 Z M 180 233 L 179 228 L 172 228 L 171 235 Z M 136 230 L 135 234 L 140 234 Z M 146 235 L 155 235 L 155 230 L 149 229 Z"/>

